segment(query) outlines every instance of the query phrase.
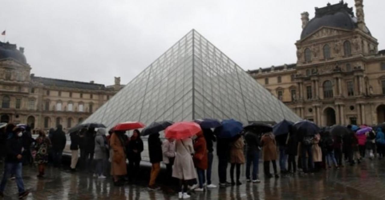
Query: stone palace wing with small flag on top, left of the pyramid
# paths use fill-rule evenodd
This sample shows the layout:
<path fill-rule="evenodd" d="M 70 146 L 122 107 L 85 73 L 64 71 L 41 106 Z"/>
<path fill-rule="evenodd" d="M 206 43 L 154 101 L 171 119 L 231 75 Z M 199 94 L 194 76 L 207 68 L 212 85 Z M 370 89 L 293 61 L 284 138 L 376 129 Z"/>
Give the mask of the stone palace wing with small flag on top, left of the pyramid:
<path fill-rule="evenodd" d="M 69 129 L 86 119 L 123 86 L 37 77 L 24 48 L 0 42 L 0 121 Z"/>

